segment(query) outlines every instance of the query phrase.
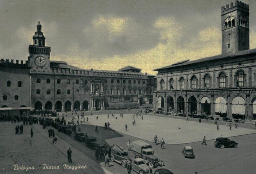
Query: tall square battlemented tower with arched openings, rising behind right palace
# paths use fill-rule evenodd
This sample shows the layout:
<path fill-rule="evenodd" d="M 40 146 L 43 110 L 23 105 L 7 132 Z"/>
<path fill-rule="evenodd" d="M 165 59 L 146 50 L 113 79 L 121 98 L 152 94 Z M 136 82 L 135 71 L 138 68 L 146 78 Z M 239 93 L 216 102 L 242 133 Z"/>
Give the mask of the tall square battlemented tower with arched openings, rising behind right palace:
<path fill-rule="evenodd" d="M 238 0 L 221 7 L 222 54 L 247 50 L 249 5 Z"/>

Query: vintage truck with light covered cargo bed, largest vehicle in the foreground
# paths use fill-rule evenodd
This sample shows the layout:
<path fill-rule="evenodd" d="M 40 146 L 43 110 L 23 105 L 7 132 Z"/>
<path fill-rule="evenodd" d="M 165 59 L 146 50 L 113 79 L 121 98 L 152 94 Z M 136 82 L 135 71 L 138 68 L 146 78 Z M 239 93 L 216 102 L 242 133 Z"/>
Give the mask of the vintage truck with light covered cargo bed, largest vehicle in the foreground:
<path fill-rule="evenodd" d="M 144 141 L 138 140 L 131 143 L 131 150 L 134 151 L 135 158 L 143 158 L 149 167 L 163 166 L 163 160 L 154 156 L 152 146 Z"/>

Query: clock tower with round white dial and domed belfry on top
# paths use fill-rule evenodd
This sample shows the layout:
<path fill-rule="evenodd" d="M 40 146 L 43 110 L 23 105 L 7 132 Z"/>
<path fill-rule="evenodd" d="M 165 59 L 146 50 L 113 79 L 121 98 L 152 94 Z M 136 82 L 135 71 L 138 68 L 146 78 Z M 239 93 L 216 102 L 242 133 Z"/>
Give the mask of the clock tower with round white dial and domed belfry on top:
<path fill-rule="evenodd" d="M 31 69 L 49 69 L 51 47 L 45 46 L 45 37 L 40 21 L 33 36 L 33 45 L 29 45 L 29 66 Z"/>

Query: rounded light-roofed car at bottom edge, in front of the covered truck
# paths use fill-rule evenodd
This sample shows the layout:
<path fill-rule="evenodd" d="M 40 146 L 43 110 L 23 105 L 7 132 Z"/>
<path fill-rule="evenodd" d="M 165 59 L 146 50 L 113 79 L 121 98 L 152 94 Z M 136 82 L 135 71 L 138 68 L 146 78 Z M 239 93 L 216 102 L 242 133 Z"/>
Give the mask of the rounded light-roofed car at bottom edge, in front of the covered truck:
<path fill-rule="evenodd" d="M 146 165 L 145 160 L 142 158 L 136 158 L 131 163 L 132 169 L 138 174 L 151 174 L 152 169 Z"/>

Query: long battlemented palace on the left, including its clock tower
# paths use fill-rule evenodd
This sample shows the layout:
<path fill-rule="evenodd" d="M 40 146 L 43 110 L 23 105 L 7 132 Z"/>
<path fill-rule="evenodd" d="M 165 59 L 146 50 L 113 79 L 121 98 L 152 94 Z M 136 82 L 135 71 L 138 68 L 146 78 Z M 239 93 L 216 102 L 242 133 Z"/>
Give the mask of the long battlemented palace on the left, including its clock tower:
<path fill-rule="evenodd" d="M 50 60 L 40 22 L 29 57 L 0 61 L 0 111 L 20 108 L 53 111 L 151 107 L 153 75 L 126 66 L 118 71 L 82 69 Z"/>

